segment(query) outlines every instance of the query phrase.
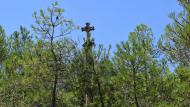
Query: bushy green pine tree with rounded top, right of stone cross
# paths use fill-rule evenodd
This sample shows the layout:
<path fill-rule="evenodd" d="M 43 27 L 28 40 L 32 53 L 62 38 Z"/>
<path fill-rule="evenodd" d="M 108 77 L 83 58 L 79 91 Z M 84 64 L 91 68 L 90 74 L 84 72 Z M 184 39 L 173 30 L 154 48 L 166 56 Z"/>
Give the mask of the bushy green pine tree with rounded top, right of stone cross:
<path fill-rule="evenodd" d="M 153 33 L 146 25 L 137 26 L 128 41 L 117 45 L 114 62 L 119 72 L 118 78 L 123 81 L 119 96 L 125 106 L 156 105 L 162 70 L 158 68 L 155 49 Z"/>

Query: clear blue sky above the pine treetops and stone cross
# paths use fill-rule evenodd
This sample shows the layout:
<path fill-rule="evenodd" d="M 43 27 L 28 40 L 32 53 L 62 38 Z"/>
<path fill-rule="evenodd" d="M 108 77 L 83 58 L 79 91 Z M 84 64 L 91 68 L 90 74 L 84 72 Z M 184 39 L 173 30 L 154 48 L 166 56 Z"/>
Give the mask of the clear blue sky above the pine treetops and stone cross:
<path fill-rule="evenodd" d="M 2 0 L 0 25 L 8 34 L 20 25 L 30 28 L 34 23 L 34 11 L 46 9 L 55 0 Z M 76 25 L 91 22 L 95 26 L 92 33 L 97 44 L 106 47 L 127 40 L 130 31 L 138 24 L 147 24 L 153 29 L 155 38 L 171 22 L 169 13 L 181 11 L 177 0 L 58 0 L 65 9 L 65 16 L 73 19 Z M 76 38 L 84 33 L 74 32 Z M 81 41 L 82 42 L 82 41 Z M 113 48 L 114 49 L 114 48 Z"/>

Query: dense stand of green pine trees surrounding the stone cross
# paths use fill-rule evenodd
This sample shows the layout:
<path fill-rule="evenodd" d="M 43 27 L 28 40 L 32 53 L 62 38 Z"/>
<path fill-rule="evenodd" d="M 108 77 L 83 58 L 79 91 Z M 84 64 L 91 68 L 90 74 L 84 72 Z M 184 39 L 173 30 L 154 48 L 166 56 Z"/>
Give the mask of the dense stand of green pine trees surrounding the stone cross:
<path fill-rule="evenodd" d="M 115 53 L 88 35 L 83 47 L 70 39 L 78 30 L 53 3 L 24 27 L 6 35 L 0 27 L 0 107 L 189 107 L 190 5 L 171 13 L 172 24 L 155 43 L 138 25 Z M 168 63 L 174 64 L 170 71 Z"/>

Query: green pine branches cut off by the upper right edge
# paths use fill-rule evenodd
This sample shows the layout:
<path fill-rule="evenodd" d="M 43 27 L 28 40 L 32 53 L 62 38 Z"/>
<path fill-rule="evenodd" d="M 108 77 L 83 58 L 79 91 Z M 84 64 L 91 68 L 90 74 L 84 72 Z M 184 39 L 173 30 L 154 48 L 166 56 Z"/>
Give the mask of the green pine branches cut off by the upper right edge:
<path fill-rule="evenodd" d="M 166 26 L 166 33 L 162 36 L 159 46 L 171 62 L 189 65 L 190 6 L 185 0 L 181 0 L 180 3 L 184 11 L 170 14 L 173 23 Z"/>

